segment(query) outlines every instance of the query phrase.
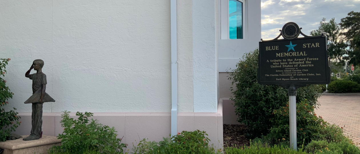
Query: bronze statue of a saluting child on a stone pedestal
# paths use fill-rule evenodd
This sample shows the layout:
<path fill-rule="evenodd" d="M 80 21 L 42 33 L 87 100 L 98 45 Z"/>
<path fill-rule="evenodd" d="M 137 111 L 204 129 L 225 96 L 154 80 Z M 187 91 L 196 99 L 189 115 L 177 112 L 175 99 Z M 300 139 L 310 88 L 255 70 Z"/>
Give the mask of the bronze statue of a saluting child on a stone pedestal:
<path fill-rule="evenodd" d="M 25 73 L 25 77 L 32 80 L 32 96 L 24 103 L 32 103 L 31 114 L 31 134 L 24 138 L 25 141 L 37 140 L 40 138 L 42 126 L 42 104 L 44 102 L 55 102 L 49 94 L 45 93 L 46 90 L 46 75 L 42 73 L 44 61 L 41 59 L 34 60 L 30 69 Z M 30 74 L 34 69 L 36 73 Z"/>

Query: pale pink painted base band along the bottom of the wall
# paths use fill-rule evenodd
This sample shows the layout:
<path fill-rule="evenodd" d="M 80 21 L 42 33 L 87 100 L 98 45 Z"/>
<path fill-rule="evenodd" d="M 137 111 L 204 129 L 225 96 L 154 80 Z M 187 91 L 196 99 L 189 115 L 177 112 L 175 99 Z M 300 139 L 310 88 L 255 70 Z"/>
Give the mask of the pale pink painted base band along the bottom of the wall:
<path fill-rule="evenodd" d="M 42 127 L 43 134 L 58 136 L 62 134 L 63 128 L 60 125 L 62 113 L 43 113 Z M 77 118 L 75 113 L 71 117 Z M 31 130 L 31 113 L 21 112 L 21 125 L 14 133 L 19 135 L 28 135 Z M 94 113 L 91 117 L 97 119 L 99 123 L 114 126 L 118 136 L 123 137 L 122 143 L 129 144 L 128 149 L 132 148 L 132 143 L 148 138 L 151 141 L 161 141 L 162 137 L 169 137 L 171 130 L 170 113 Z M 177 131 L 181 132 L 201 130 L 209 135 L 210 144 L 216 148 L 222 148 L 222 106 L 219 104 L 217 113 L 196 113 L 180 112 L 177 116 Z"/>

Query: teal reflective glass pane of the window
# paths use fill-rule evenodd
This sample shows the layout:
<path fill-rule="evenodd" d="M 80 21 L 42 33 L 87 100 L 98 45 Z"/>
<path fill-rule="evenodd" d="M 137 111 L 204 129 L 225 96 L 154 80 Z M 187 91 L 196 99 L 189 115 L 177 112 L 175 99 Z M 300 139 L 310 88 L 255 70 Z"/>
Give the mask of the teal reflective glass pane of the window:
<path fill-rule="evenodd" d="M 229 38 L 243 38 L 243 3 L 229 0 Z"/>

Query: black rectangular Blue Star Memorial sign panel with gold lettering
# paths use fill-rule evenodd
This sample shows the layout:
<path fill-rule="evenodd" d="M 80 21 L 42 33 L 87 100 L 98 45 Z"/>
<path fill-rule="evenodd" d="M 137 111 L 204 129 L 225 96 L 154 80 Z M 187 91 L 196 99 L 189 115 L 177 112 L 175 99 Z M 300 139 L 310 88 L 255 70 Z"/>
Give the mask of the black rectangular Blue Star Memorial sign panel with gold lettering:
<path fill-rule="evenodd" d="M 260 42 L 258 83 L 328 84 L 326 37 Z"/>

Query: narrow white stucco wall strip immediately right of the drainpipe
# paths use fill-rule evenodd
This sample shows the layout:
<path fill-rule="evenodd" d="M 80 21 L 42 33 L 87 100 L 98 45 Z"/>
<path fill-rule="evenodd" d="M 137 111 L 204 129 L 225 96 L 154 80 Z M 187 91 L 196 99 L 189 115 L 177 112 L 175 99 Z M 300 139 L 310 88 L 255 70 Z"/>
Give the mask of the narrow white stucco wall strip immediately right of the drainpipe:
<path fill-rule="evenodd" d="M 192 0 L 176 0 L 178 112 L 194 112 Z"/>

